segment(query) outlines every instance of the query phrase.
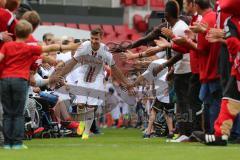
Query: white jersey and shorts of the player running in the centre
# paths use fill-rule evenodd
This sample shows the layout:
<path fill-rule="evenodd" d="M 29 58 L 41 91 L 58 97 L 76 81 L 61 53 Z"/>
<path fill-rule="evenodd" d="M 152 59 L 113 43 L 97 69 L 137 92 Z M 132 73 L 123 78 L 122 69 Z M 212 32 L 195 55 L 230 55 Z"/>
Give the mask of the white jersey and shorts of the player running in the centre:
<path fill-rule="evenodd" d="M 113 66 L 115 64 L 113 55 L 105 44 L 101 43 L 100 48 L 93 51 L 91 42 L 86 41 L 77 49 L 74 58 L 81 63 L 77 68 L 77 86 L 86 88 L 84 93 L 77 95 L 77 103 L 97 105 L 100 99 L 96 97 L 96 90 L 105 91 L 104 64 Z"/>

